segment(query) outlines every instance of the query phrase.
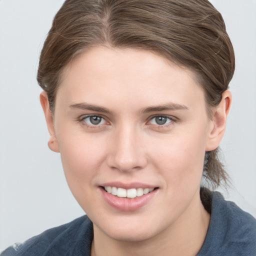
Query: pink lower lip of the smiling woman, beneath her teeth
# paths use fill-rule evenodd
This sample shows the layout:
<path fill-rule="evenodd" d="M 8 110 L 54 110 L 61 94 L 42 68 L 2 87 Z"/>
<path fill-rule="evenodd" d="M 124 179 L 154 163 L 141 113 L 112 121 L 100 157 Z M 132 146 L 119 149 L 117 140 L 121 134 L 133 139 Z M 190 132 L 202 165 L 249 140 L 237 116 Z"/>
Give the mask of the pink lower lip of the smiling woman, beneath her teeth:
<path fill-rule="evenodd" d="M 133 211 L 141 208 L 146 203 L 148 203 L 150 199 L 155 195 L 158 189 L 156 188 L 147 194 L 144 194 L 135 198 L 118 197 L 116 195 L 112 195 L 108 193 L 102 187 L 100 187 L 100 190 L 102 192 L 103 198 L 112 207 L 122 211 Z"/>

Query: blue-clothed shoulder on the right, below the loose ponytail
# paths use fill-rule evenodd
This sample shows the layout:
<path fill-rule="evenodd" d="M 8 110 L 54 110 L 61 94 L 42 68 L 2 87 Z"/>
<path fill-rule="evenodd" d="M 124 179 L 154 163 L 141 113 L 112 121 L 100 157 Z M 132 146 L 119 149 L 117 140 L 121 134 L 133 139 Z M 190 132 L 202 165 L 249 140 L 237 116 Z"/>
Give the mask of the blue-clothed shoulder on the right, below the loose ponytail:
<path fill-rule="evenodd" d="M 198 255 L 256 255 L 255 218 L 219 192 L 211 196 L 210 224 Z"/>

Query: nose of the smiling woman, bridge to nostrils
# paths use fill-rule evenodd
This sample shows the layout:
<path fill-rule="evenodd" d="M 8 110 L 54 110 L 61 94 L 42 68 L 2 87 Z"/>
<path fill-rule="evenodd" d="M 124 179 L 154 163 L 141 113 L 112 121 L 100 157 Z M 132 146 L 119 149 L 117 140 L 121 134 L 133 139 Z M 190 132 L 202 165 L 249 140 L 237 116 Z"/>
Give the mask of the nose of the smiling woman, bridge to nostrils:
<path fill-rule="evenodd" d="M 147 157 L 142 138 L 136 128 L 124 125 L 117 129 L 111 139 L 107 164 L 113 169 L 126 172 L 139 170 L 146 166 Z"/>

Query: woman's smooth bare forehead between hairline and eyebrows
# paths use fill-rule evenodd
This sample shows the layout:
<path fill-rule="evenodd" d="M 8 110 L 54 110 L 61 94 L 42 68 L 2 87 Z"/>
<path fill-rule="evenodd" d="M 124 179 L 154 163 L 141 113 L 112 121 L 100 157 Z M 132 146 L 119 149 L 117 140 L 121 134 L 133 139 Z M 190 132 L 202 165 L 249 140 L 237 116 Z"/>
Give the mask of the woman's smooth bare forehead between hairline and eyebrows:
<path fill-rule="evenodd" d="M 184 100 L 190 104 L 204 98 L 191 70 L 148 50 L 103 46 L 92 47 L 69 63 L 56 103 L 60 97 L 70 103 L 93 100 L 100 104 L 136 99 L 137 105 L 161 101 L 183 104 Z"/>

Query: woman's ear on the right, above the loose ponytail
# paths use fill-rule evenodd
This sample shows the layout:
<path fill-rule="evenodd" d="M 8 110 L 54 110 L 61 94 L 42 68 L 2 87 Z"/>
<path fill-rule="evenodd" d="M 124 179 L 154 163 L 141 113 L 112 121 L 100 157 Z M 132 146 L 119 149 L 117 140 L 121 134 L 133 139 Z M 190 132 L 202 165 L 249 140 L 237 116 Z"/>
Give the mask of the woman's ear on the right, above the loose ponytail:
<path fill-rule="evenodd" d="M 226 128 L 226 118 L 230 110 L 232 94 L 229 90 L 222 93 L 222 99 L 213 109 L 209 134 L 207 138 L 205 151 L 211 151 L 218 147 Z"/>

